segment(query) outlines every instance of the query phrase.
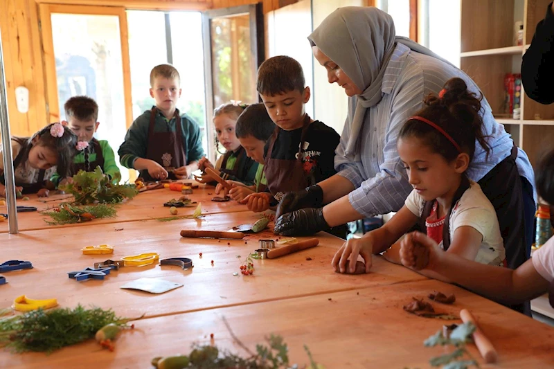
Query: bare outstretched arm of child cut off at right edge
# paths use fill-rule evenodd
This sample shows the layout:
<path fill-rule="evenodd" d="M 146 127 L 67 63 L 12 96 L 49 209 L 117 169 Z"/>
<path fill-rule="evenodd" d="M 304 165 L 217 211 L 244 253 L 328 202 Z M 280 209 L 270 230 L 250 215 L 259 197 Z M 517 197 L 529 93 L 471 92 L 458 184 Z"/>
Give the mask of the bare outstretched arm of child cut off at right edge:
<path fill-rule="evenodd" d="M 418 232 L 404 237 L 400 255 L 406 267 L 434 271 L 502 303 L 521 303 L 535 298 L 544 294 L 549 285 L 548 280 L 537 272 L 532 260 L 515 270 L 481 264 L 455 253 L 445 253 L 434 240 Z"/>

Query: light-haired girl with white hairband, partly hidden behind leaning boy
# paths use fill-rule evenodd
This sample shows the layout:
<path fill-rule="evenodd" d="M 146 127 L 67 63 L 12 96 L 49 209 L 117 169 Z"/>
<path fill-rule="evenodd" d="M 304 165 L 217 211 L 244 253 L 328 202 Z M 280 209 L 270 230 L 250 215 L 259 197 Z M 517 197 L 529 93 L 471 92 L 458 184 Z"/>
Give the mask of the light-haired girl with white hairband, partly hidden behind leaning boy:
<path fill-rule="evenodd" d="M 217 151 L 220 152 L 219 144 L 221 143 L 225 147 L 226 152 L 215 163 L 215 168 L 206 157 L 200 159 L 198 167 L 202 171 L 205 168 L 214 169 L 223 179 L 238 181 L 247 186 L 252 186 L 256 177 L 256 171 L 258 170 L 258 163 L 247 156 L 244 147 L 240 145 L 240 141 L 238 141 L 235 134 L 238 117 L 247 107 L 247 105 L 240 105 L 239 103 L 234 101 L 224 104 L 213 111 L 213 124 L 215 125 L 216 133 L 215 145 Z M 211 183 L 214 186 L 217 185 L 217 182 L 209 174 L 197 177 L 197 181 L 200 183 Z"/>

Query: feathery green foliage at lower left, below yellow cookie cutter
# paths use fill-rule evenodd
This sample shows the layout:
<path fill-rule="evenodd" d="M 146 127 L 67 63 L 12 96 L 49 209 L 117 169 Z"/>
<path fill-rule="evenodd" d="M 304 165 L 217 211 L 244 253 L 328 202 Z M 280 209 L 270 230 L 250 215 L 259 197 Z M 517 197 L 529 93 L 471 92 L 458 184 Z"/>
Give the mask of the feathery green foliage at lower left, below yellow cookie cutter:
<path fill-rule="evenodd" d="M 93 338 L 109 323 L 124 325 L 125 320 L 99 307 L 85 309 L 42 309 L 0 320 L 0 346 L 13 352 L 53 352 Z"/>

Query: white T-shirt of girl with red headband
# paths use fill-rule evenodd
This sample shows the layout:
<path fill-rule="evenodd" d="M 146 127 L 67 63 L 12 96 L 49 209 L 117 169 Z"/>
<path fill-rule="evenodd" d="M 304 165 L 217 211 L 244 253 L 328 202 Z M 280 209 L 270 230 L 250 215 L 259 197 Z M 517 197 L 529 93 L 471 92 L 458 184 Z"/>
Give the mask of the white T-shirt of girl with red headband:
<path fill-rule="evenodd" d="M 413 190 L 404 204 L 413 214 L 422 216 L 425 200 L 417 191 Z M 450 240 L 454 238 L 456 229 L 461 226 L 470 226 L 481 233 L 483 242 L 475 257 L 476 262 L 503 265 L 506 250 L 500 234 L 497 213 L 478 183 L 470 181 L 470 188 L 463 193 L 452 210 L 449 226 Z M 443 248 L 442 241 L 439 246 Z"/>

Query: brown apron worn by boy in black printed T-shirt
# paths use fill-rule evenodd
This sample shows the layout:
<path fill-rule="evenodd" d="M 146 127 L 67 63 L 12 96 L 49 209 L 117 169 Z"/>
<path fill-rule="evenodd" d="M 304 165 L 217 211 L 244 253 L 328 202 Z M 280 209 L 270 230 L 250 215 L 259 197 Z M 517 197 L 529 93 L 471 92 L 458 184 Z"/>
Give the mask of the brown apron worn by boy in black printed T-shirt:
<path fill-rule="evenodd" d="M 302 146 L 307 132 L 310 127 L 310 116 L 306 114 L 302 133 L 300 136 L 300 147 L 298 147 L 298 157 L 294 160 L 290 159 L 271 159 L 271 153 L 277 141 L 280 128 L 275 127 L 275 131 L 269 138 L 269 149 L 265 157 L 265 178 L 267 179 L 267 187 L 274 196 L 279 192 L 283 194 L 287 192 L 296 192 L 304 190 L 310 183 L 307 181 L 307 174 L 304 172 L 302 163 Z"/>

